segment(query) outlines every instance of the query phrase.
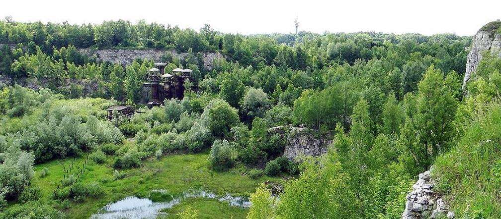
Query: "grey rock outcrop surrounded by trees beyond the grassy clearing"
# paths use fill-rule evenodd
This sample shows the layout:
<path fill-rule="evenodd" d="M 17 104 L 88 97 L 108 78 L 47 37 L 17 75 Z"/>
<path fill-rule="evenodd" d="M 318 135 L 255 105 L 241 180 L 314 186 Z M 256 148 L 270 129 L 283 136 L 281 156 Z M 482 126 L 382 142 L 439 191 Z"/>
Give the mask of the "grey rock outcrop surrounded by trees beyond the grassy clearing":
<path fill-rule="evenodd" d="M 314 129 L 305 127 L 273 127 L 268 131 L 286 134 L 284 156 L 292 160 L 297 156 L 319 156 L 327 152 L 332 143 L 329 134 L 319 136 Z"/>

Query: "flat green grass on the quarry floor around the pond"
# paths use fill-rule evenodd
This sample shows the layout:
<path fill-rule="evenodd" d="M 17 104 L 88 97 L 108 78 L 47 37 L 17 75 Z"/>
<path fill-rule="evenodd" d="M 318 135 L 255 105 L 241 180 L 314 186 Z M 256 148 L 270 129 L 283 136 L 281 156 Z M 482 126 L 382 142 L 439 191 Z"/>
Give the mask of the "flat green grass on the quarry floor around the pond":
<path fill-rule="evenodd" d="M 130 144 L 131 142 L 126 142 Z M 203 188 L 216 194 L 249 195 L 256 186 L 264 180 L 276 180 L 267 176 L 257 180 L 248 176 L 231 172 L 216 172 L 208 168 L 208 151 L 197 154 L 167 155 L 160 160 L 146 160 L 138 168 L 120 170 L 126 176 L 115 180 L 112 168 L 113 156 L 108 156 L 103 164 L 89 161 L 84 174 L 79 181 L 84 183 L 98 182 L 104 188 L 104 193 L 99 198 L 86 198 L 82 202 L 71 202 L 68 209 L 63 211 L 70 218 L 88 218 L 109 202 L 120 200 L 126 196 L 147 196 L 152 189 L 165 189 L 171 194 L 179 194 L 189 189 Z M 90 159 L 89 159 L 90 160 Z M 35 167 L 36 174 L 32 186 L 39 186 L 43 197 L 40 201 L 53 203 L 53 192 L 61 184 L 65 174 L 63 163 L 68 166 L 71 162 L 75 166 L 82 166 L 85 157 L 66 158 L 53 160 Z M 48 174 L 41 177 L 42 170 L 47 168 Z M 243 218 L 246 209 L 230 207 L 217 200 L 195 198 L 183 202 L 172 209 L 172 213 L 182 211 L 183 207 L 193 205 L 200 213 L 201 218 Z"/>

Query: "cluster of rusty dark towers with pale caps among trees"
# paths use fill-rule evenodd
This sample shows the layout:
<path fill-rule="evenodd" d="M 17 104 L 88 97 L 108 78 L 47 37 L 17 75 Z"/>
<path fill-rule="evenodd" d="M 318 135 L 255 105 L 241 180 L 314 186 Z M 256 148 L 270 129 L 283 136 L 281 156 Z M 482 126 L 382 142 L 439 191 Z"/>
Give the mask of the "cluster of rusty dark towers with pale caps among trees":
<path fill-rule="evenodd" d="M 151 88 L 150 101 L 148 107 L 158 106 L 164 99 L 184 96 L 184 81 L 191 79 L 191 69 L 172 69 L 171 73 L 165 72 L 165 63 L 155 63 L 155 67 L 148 70 L 145 86 Z"/>

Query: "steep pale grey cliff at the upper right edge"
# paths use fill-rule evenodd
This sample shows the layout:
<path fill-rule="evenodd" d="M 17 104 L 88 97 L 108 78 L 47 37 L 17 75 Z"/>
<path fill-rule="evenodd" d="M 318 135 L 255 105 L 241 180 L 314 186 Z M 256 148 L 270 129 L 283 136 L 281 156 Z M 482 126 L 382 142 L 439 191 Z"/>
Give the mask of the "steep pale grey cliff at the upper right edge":
<path fill-rule="evenodd" d="M 482 54 L 485 50 L 489 50 L 492 55 L 501 57 L 501 33 L 498 28 L 501 26 L 501 21 L 493 21 L 485 24 L 473 37 L 471 50 L 468 53 L 466 62 L 466 71 L 464 73 L 462 89 L 465 90 L 466 84 L 471 77 L 471 73 L 476 70 Z"/>

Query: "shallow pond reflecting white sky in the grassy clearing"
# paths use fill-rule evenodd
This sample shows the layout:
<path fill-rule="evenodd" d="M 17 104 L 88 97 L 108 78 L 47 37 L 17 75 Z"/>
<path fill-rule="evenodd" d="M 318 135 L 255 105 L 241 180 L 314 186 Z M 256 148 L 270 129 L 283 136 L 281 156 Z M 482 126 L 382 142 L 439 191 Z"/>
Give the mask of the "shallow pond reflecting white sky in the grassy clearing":
<path fill-rule="evenodd" d="M 205 190 L 186 191 L 180 195 L 172 196 L 165 190 L 152 190 L 148 197 L 125 197 L 104 206 L 91 218 L 156 218 L 161 209 L 171 208 L 189 198 L 217 199 L 228 203 L 230 206 L 248 208 L 250 201 L 247 197 L 231 196 L 226 194 L 218 196 Z"/>

